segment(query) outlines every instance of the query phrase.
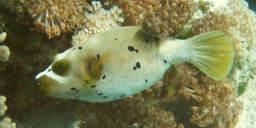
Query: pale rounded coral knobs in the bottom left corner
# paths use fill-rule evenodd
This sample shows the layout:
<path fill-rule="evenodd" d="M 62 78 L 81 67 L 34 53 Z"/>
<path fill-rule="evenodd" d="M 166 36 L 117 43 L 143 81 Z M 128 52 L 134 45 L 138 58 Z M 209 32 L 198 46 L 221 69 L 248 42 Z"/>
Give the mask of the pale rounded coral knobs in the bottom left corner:
<path fill-rule="evenodd" d="M 7 97 L 0 96 L 0 116 L 3 116 L 5 111 L 7 111 L 7 105 L 4 103 L 6 102 Z M 0 121 L 0 127 L 1 128 L 16 128 L 16 124 L 12 122 L 12 120 L 8 117 L 2 119 Z"/>

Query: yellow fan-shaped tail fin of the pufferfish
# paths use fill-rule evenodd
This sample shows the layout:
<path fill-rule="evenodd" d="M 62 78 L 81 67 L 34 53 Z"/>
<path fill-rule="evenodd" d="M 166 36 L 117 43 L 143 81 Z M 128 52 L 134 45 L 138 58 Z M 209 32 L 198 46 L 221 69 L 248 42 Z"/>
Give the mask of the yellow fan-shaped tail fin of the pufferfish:
<path fill-rule="evenodd" d="M 188 39 L 194 54 L 189 59 L 211 79 L 220 81 L 230 72 L 235 56 L 230 37 L 222 31 L 211 31 Z"/>

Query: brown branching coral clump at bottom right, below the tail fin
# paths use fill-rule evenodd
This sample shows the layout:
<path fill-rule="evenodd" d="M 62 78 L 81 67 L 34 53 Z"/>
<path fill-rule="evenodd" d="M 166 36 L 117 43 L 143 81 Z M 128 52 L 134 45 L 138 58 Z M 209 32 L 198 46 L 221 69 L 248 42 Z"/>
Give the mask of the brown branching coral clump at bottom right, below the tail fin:
<path fill-rule="evenodd" d="M 190 121 L 200 127 L 208 124 L 223 128 L 236 126 L 243 106 L 240 101 L 236 101 L 236 87 L 227 81 L 216 82 L 204 93 L 203 102 L 192 107 Z"/>

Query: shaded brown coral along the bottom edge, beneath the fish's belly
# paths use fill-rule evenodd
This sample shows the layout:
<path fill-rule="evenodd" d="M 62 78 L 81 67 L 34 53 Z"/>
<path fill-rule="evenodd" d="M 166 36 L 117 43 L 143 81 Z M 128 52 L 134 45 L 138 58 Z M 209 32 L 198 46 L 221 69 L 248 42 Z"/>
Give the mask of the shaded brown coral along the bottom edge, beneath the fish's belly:
<path fill-rule="evenodd" d="M 78 118 L 80 128 L 177 127 L 172 113 L 154 106 L 144 106 L 140 94 L 110 103 L 82 106 L 78 111 Z"/>

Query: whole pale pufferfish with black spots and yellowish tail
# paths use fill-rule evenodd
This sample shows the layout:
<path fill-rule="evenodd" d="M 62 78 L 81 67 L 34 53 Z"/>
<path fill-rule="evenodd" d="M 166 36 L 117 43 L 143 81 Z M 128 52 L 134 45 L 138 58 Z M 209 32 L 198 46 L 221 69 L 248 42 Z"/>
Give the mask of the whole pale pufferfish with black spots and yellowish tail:
<path fill-rule="evenodd" d="M 181 40 L 128 26 L 97 33 L 56 55 L 36 79 L 48 96 L 108 102 L 151 87 L 181 61 L 220 81 L 233 59 L 233 43 L 222 31 Z"/>

